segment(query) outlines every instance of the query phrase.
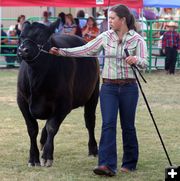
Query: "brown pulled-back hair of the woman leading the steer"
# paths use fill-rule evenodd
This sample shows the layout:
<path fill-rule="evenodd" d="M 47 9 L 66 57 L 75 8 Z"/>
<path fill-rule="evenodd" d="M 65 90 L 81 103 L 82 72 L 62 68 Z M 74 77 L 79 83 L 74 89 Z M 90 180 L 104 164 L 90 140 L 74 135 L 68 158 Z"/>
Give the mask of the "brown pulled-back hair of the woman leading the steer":
<path fill-rule="evenodd" d="M 129 11 L 128 7 L 120 4 L 120 5 L 113 6 L 110 9 L 110 11 L 115 12 L 119 18 L 125 17 L 128 29 L 129 30 L 133 29 L 136 31 L 135 18 L 133 16 L 133 14 L 131 14 L 131 12 Z"/>

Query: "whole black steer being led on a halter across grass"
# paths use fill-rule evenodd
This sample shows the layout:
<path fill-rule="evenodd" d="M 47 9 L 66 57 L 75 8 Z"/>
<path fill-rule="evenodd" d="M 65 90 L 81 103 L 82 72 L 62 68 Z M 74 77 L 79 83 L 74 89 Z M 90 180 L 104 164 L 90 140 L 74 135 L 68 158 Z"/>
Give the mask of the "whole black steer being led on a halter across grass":
<path fill-rule="evenodd" d="M 37 146 L 37 119 L 45 119 L 40 143 L 42 166 L 53 163 L 54 136 L 72 109 L 84 106 L 89 133 L 89 155 L 97 155 L 94 136 L 95 110 L 99 95 L 99 66 L 95 58 L 54 56 L 52 46 L 77 47 L 84 44 L 77 36 L 53 34 L 53 24 L 25 22 L 18 56 L 22 63 L 17 84 L 17 102 L 30 137 L 29 166 L 40 165 Z M 77 120 L 78 121 L 78 120 Z"/>

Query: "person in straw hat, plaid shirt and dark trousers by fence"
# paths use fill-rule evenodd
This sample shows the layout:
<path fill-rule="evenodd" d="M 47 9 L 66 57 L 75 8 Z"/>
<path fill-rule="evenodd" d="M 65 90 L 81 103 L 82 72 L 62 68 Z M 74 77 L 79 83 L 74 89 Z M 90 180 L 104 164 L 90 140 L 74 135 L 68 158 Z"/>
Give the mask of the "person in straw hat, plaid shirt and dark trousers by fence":
<path fill-rule="evenodd" d="M 180 34 L 175 31 L 177 24 L 173 21 L 166 25 L 167 31 L 162 38 L 162 51 L 165 54 L 165 70 L 168 74 L 175 73 L 177 53 L 180 50 Z"/>

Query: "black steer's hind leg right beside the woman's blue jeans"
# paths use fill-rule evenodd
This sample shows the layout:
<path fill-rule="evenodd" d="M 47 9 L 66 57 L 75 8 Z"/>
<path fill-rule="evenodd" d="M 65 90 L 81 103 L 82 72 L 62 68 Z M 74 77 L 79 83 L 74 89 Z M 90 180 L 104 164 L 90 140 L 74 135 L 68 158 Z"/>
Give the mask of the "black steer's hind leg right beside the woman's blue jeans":
<path fill-rule="evenodd" d="M 98 153 L 97 142 L 95 139 L 94 129 L 95 129 L 95 120 L 96 120 L 96 107 L 99 97 L 99 83 L 96 85 L 96 89 L 92 94 L 90 100 L 85 104 L 84 107 L 84 118 L 86 123 L 86 128 L 89 133 L 89 155 L 96 156 Z"/>

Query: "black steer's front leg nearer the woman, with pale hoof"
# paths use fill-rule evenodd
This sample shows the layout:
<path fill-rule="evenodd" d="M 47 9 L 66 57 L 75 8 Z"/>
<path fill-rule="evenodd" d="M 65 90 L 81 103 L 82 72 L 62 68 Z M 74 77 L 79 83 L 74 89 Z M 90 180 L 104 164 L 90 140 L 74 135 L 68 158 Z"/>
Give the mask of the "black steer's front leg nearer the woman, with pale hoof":
<path fill-rule="evenodd" d="M 64 120 L 66 115 L 61 118 L 49 119 L 46 123 L 47 140 L 43 148 L 43 154 L 41 158 L 41 166 L 50 167 L 53 163 L 53 152 L 54 152 L 54 136 L 59 130 L 59 127 Z"/>

